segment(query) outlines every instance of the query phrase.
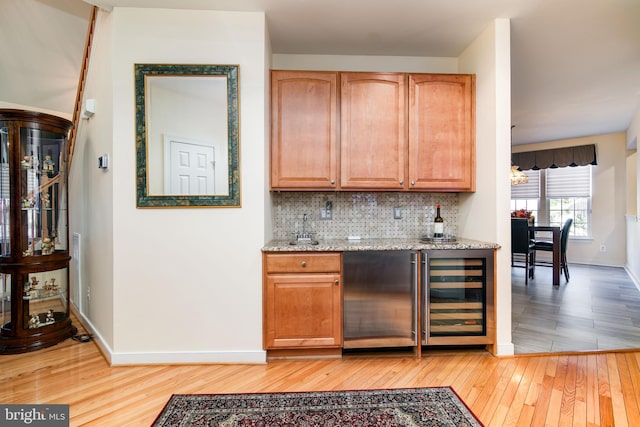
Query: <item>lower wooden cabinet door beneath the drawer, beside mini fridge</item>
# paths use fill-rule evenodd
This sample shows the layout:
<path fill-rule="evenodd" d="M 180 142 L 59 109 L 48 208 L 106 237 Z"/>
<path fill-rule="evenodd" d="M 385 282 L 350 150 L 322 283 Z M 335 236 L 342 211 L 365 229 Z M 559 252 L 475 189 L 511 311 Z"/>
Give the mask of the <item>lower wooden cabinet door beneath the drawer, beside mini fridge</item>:
<path fill-rule="evenodd" d="M 339 274 L 268 275 L 266 349 L 342 346 Z"/>

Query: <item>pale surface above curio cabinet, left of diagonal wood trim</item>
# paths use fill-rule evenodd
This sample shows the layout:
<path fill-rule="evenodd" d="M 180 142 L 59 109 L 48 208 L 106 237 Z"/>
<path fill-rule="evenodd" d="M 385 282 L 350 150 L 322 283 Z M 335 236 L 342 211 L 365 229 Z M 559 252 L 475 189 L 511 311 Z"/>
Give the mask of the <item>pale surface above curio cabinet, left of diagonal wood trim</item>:
<path fill-rule="evenodd" d="M 91 6 L 0 0 L 0 11 L 0 106 L 71 118 Z"/>

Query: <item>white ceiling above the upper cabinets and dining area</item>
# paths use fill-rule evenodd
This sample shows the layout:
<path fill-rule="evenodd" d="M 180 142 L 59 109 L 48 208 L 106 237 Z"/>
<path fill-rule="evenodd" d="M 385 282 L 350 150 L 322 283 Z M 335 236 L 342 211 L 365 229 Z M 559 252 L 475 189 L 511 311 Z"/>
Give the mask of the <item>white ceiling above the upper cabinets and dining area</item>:
<path fill-rule="evenodd" d="M 624 132 L 640 106 L 640 0 L 84 1 L 264 11 L 273 53 L 283 54 L 457 57 L 509 18 L 514 144 Z"/>

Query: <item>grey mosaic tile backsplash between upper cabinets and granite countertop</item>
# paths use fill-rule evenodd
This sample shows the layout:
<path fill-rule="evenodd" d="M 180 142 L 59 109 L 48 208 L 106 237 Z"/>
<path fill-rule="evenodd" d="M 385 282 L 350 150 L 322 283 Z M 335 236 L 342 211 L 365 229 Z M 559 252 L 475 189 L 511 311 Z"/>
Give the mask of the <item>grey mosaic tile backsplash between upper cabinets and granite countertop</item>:
<path fill-rule="evenodd" d="M 291 240 L 294 233 L 303 232 L 305 214 L 305 231 L 315 233 L 318 240 L 419 238 L 433 222 L 438 204 L 445 232 L 457 236 L 456 193 L 274 192 L 271 196 L 276 240 Z M 320 219 L 327 201 L 333 204 L 332 219 Z M 401 219 L 394 219 L 394 208 L 401 209 Z"/>

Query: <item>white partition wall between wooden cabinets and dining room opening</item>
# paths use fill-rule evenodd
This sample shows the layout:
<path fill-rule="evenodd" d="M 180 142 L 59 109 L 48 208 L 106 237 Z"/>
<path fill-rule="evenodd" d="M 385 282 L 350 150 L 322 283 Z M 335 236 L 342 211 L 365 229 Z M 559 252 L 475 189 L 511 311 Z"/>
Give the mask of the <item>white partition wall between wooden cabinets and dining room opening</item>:
<path fill-rule="evenodd" d="M 460 72 L 476 73 L 476 192 L 460 194 L 460 234 L 496 242 L 496 352 L 511 342 L 511 39 L 508 19 L 496 19 L 460 55 Z"/>

